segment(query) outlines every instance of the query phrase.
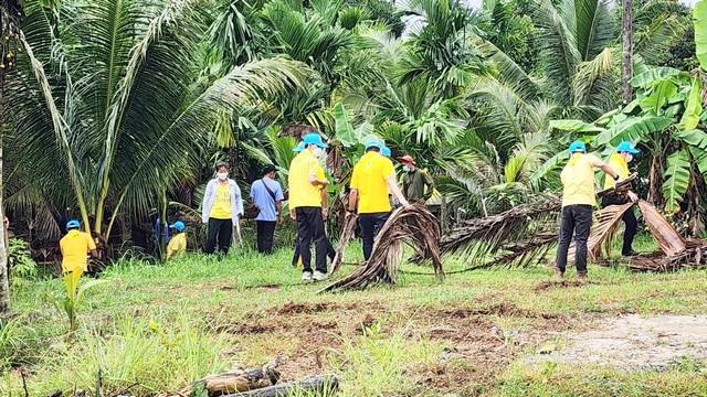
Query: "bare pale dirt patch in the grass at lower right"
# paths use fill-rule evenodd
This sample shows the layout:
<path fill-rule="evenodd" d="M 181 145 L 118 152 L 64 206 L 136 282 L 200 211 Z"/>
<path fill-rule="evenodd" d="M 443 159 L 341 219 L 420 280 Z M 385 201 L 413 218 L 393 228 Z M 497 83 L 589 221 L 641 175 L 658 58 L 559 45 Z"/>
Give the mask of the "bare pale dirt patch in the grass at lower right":
<path fill-rule="evenodd" d="M 707 358 L 707 315 L 627 314 L 583 332 L 552 332 L 529 362 L 594 363 L 662 371 L 684 358 Z"/>

